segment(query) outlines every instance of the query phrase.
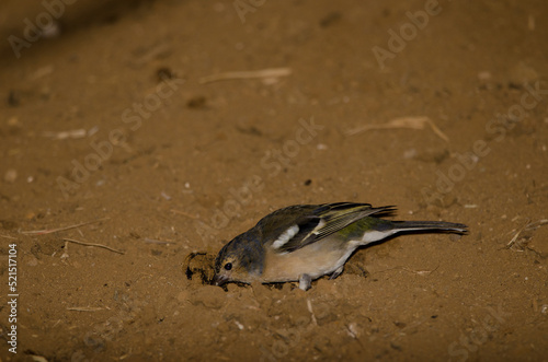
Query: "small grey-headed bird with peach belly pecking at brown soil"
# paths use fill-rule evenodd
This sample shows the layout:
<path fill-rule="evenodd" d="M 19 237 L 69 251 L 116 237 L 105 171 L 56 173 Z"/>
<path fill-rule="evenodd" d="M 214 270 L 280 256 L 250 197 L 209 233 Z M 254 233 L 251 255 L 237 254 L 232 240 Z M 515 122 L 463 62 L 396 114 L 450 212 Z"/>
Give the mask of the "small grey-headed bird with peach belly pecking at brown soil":
<path fill-rule="evenodd" d="M 467 232 L 466 225 L 445 221 L 380 219 L 395 210 L 391 206 L 336 202 L 274 211 L 220 249 L 213 283 L 298 281 L 306 291 L 312 280 L 339 277 L 359 246 L 400 232 Z"/>

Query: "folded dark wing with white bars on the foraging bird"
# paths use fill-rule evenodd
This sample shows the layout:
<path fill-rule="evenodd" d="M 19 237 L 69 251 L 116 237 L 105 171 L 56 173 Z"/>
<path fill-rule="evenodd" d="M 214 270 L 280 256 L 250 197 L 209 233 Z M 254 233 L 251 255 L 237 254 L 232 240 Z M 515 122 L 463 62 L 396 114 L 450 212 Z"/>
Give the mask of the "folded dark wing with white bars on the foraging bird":
<path fill-rule="evenodd" d="M 346 227 L 353 222 L 380 212 L 391 212 L 393 207 L 373 208 L 368 203 L 338 202 L 319 206 L 289 207 L 260 221 L 264 240 L 276 253 L 295 252 L 306 245 Z"/>

